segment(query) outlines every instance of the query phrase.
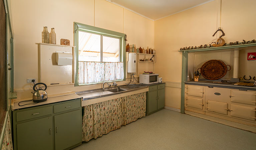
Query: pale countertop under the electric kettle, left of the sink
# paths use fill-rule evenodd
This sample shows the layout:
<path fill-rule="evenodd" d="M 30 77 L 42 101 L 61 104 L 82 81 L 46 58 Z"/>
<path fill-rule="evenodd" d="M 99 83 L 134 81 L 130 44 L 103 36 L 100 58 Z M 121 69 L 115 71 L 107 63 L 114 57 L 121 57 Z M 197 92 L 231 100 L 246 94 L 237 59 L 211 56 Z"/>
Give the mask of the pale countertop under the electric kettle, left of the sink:
<path fill-rule="evenodd" d="M 34 107 L 34 106 L 40 106 L 40 105 L 46 105 L 46 104 L 51 104 L 51 103 L 57 103 L 57 102 L 62 102 L 62 101 L 67 101 L 67 100 L 78 99 L 78 98 L 82 98 L 82 97 L 77 95 L 77 94 L 70 94 L 70 95 L 48 98 L 46 101 L 40 102 L 40 103 L 34 103 L 32 100 L 21 102 L 20 105 L 34 103 L 34 104 L 24 105 L 24 106 L 19 106 L 18 105 L 18 103 L 20 101 L 16 101 L 16 102 L 14 101 L 13 106 L 12 106 L 12 110 Z"/>

